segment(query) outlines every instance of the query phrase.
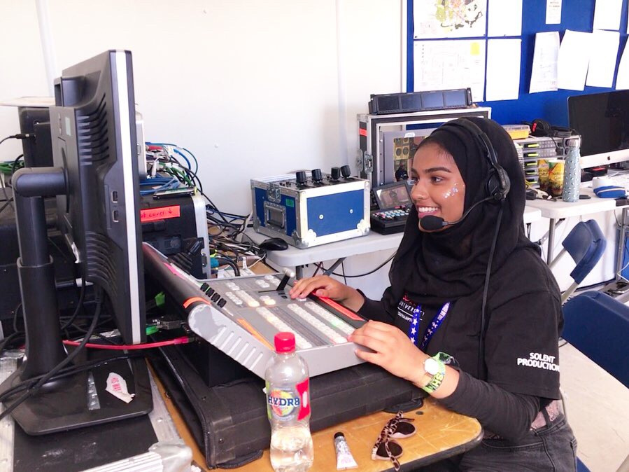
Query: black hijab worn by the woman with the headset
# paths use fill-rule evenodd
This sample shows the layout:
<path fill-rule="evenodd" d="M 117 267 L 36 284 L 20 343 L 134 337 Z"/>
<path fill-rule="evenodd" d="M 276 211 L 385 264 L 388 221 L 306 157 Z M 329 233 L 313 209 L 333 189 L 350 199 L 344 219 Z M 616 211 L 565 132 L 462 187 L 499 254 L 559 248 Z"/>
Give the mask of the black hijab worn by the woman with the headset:
<path fill-rule="evenodd" d="M 488 136 L 499 165 L 509 175 L 511 190 L 504 201 L 483 202 L 463 221 L 439 232 L 421 232 L 417 212 L 411 211 L 389 273 L 391 287 L 384 296 L 388 311 L 396 309 L 404 293 L 416 303 L 432 305 L 482 289 L 501 207 L 502 222 L 491 272 L 498 270 L 516 249 L 539 254 L 539 248 L 524 232 L 524 175 L 511 137 L 493 120 L 459 120 L 472 121 Z M 439 144 L 454 158 L 465 181 L 464 211 L 488 196 L 490 161 L 478 137 L 464 127 L 446 123 L 434 130 L 422 145 L 427 142 Z"/>

